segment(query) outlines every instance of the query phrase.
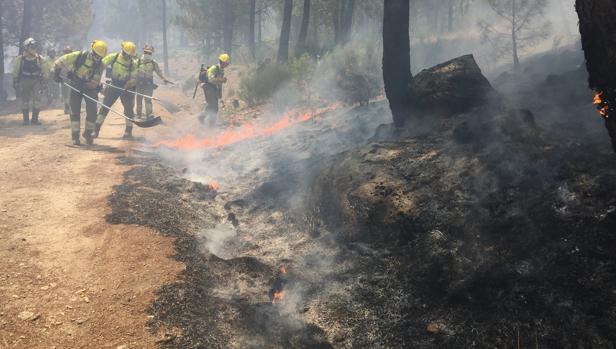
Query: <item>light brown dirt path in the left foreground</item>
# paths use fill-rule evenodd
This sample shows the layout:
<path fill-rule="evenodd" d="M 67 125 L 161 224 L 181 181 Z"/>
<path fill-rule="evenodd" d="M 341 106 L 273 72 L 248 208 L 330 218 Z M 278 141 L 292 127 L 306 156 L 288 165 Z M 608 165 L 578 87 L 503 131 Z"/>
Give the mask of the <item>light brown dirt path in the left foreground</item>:
<path fill-rule="evenodd" d="M 170 238 L 105 220 L 124 123 L 86 148 L 68 146 L 58 110 L 41 118 L 0 116 L 0 348 L 154 347 L 145 311 L 183 264 Z"/>

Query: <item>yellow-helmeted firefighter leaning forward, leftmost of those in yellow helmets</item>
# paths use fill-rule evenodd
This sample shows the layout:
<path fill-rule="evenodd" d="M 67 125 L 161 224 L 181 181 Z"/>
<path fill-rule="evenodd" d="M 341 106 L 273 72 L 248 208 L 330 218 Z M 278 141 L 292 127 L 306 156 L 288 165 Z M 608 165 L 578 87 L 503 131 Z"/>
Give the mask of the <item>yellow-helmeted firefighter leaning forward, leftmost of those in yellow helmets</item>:
<path fill-rule="evenodd" d="M 105 69 L 103 58 L 107 55 L 107 43 L 94 40 L 88 51 L 74 51 L 61 56 L 54 66 L 54 80 L 62 83 L 60 73 L 66 70 L 68 83 L 80 92 L 70 90 L 69 104 L 71 112 L 71 137 L 74 145 L 79 141 L 81 116 L 81 101 L 86 102 L 86 127 L 83 137 L 88 144 L 93 143 L 93 132 L 96 125 L 96 103 L 84 96 L 98 100 L 101 91 L 101 76 Z"/>

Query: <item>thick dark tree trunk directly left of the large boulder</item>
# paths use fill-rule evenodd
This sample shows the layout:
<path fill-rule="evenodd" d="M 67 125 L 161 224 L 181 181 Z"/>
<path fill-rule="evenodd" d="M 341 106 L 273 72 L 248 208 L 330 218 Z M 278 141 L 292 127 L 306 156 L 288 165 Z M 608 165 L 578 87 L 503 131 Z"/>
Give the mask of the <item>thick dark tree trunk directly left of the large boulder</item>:
<path fill-rule="evenodd" d="M 403 126 L 410 116 L 410 45 L 409 0 L 384 0 L 383 81 L 397 127 Z"/>

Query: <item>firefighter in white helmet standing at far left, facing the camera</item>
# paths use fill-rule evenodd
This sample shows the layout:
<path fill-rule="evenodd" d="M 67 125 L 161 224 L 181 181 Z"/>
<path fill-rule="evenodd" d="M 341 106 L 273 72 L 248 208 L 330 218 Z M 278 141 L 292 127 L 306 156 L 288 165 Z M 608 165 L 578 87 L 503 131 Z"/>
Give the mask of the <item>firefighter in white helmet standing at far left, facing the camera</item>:
<path fill-rule="evenodd" d="M 28 38 L 23 43 L 24 53 L 17 57 L 13 66 L 13 87 L 21 99 L 24 126 L 40 125 L 40 97 L 44 80 L 49 75 L 45 60 L 36 51 L 36 41 Z M 32 122 L 30 122 L 32 109 Z"/>

